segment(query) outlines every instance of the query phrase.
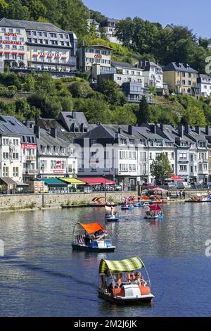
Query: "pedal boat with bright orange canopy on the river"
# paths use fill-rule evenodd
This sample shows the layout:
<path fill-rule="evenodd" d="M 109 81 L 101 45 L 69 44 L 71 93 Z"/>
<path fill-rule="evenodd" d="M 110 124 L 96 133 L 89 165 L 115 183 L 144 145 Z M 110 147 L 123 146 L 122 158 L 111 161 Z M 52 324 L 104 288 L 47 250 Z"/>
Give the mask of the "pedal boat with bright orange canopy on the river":
<path fill-rule="evenodd" d="M 72 232 L 72 249 L 77 251 L 114 251 L 110 235 L 100 223 L 76 223 Z"/>

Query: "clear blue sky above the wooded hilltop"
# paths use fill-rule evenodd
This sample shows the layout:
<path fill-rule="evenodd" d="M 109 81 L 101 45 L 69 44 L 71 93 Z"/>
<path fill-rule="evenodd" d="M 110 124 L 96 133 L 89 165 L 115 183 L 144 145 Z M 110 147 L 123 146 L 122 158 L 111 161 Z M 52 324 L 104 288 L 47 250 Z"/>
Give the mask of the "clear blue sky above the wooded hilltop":
<path fill-rule="evenodd" d="M 211 38 L 210 0 L 82 0 L 90 9 L 110 18 L 139 16 L 159 22 L 162 26 L 174 23 L 193 29 L 196 35 Z"/>

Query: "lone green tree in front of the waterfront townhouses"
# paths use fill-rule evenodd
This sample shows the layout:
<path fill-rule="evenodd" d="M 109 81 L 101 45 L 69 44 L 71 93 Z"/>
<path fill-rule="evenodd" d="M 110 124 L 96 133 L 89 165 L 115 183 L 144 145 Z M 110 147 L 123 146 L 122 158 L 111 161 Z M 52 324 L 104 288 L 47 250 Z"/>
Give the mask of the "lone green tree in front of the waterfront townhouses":
<path fill-rule="evenodd" d="M 155 178 L 155 184 L 163 184 L 165 178 L 172 175 L 172 167 L 168 157 L 161 153 L 153 162 L 151 163 L 151 175 Z"/>

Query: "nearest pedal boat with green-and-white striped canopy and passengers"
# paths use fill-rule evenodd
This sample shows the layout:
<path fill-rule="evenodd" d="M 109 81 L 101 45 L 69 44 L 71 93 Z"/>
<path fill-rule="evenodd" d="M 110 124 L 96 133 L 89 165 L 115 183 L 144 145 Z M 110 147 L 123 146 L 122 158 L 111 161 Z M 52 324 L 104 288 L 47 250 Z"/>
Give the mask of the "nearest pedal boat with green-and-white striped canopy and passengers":
<path fill-rule="evenodd" d="M 140 270 L 145 270 L 143 279 Z M 99 265 L 98 295 L 116 304 L 150 303 L 151 281 L 138 256 L 120 261 L 102 259 Z"/>

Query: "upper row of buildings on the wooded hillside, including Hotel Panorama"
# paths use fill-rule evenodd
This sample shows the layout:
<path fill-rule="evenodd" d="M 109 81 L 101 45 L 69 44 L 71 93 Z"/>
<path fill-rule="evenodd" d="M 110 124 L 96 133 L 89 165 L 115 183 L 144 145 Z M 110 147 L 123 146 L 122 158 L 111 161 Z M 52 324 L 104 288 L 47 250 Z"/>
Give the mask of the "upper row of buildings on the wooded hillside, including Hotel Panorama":
<path fill-rule="evenodd" d="M 111 38 L 115 38 L 116 23 L 113 19 L 101 23 Z M 155 87 L 161 96 L 169 91 L 196 98 L 211 96 L 211 76 L 200 75 L 187 63 L 172 62 L 165 68 L 152 61 L 132 65 L 112 61 L 112 51 L 100 44 L 78 46 L 74 32 L 61 30 L 51 23 L 0 20 L 1 72 L 5 65 L 14 71 L 35 70 L 39 73 L 47 70 L 55 76 L 89 71 L 93 82 L 102 79 L 117 82 L 128 102 L 139 102 L 143 94 L 150 102 L 150 87 Z"/>

